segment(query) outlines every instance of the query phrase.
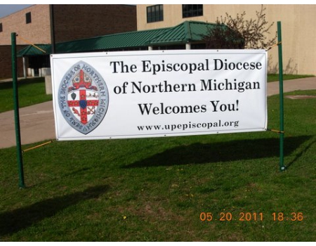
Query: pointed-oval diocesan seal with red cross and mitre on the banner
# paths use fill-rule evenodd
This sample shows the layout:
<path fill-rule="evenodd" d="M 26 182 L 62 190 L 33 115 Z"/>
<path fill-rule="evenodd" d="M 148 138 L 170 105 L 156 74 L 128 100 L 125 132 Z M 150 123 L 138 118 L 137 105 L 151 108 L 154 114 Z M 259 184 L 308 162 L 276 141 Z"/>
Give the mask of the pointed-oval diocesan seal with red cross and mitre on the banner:
<path fill-rule="evenodd" d="M 105 80 L 83 61 L 72 65 L 64 75 L 58 98 L 63 117 L 81 134 L 88 134 L 98 127 L 109 105 Z"/>

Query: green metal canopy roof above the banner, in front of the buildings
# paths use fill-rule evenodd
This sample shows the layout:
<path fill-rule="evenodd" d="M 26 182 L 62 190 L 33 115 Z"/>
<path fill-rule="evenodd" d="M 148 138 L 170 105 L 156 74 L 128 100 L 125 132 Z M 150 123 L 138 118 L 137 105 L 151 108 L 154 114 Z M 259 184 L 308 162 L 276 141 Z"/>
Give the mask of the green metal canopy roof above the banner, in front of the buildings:
<path fill-rule="evenodd" d="M 175 27 L 166 27 L 154 30 L 137 32 L 124 32 L 110 34 L 88 39 L 78 39 L 55 44 L 56 53 L 77 53 L 89 51 L 110 51 L 124 48 L 144 48 L 146 46 L 157 46 L 166 44 L 185 44 L 188 41 L 202 41 L 208 28 L 216 24 L 185 21 Z M 51 53 L 51 44 L 37 44 L 43 49 L 40 51 L 35 46 L 27 46 L 18 52 L 18 56 L 41 56 Z"/>

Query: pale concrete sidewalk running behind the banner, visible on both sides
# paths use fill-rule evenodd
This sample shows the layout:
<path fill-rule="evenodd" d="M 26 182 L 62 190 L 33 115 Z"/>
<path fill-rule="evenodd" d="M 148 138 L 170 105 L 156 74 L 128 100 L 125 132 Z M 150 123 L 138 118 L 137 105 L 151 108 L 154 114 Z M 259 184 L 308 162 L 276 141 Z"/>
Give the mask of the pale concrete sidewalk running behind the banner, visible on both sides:
<path fill-rule="evenodd" d="M 293 79 L 284 82 L 284 93 L 297 90 L 316 89 L 316 77 Z M 279 93 L 279 82 L 268 83 L 268 96 Z M 0 114 L 0 148 L 15 146 L 14 112 Z M 20 129 L 22 144 L 55 139 L 53 102 L 20 108 Z"/>

